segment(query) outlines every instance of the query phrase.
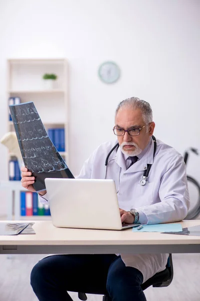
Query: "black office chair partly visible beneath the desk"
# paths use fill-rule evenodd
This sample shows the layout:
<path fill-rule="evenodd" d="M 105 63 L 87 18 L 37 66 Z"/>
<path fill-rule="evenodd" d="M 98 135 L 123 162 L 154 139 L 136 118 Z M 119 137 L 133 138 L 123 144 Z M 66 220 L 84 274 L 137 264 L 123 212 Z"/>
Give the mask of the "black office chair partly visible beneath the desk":
<path fill-rule="evenodd" d="M 153 287 L 164 287 L 168 286 L 173 279 L 173 264 L 172 264 L 172 256 L 169 254 L 166 268 L 165 270 L 156 273 L 151 278 L 146 280 L 146 282 L 141 284 L 142 290 L 146 289 L 150 285 Z M 97 291 L 94 294 L 104 294 L 102 301 L 112 301 L 111 298 L 108 296 L 107 291 Z M 84 292 L 78 292 L 78 298 L 82 301 L 86 301 L 87 296 Z"/>

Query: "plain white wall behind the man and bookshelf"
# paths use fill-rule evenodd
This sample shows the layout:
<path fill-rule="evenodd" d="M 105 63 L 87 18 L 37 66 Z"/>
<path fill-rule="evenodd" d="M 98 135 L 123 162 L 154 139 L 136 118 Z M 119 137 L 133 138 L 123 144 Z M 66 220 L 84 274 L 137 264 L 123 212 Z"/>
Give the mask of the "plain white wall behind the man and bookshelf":
<path fill-rule="evenodd" d="M 198 0 L 0 1 L 0 137 L 7 130 L 6 59 L 64 57 L 72 173 L 99 143 L 113 139 L 114 109 L 130 96 L 151 104 L 157 138 L 180 153 L 200 148 L 199 12 Z M 97 77 L 105 60 L 121 69 L 115 84 Z M 5 156 L 0 145 L 0 179 L 6 179 Z M 199 162 L 192 157 L 188 168 L 200 181 Z"/>

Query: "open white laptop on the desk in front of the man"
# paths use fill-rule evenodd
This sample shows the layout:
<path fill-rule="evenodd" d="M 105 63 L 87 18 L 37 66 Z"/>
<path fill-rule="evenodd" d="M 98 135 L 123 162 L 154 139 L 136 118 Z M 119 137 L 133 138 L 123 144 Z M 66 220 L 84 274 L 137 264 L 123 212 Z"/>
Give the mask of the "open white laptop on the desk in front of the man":
<path fill-rule="evenodd" d="M 50 214 L 55 227 L 123 230 L 113 180 L 46 178 Z"/>

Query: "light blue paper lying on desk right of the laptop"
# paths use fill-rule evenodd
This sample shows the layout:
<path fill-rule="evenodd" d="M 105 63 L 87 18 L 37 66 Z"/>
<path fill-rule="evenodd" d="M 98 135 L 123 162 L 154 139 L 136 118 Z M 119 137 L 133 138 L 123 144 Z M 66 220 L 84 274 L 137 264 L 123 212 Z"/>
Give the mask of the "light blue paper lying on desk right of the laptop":
<path fill-rule="evenodd" d="M 143 225 L 140 230 L 137 227 L 132 228 L 133 232 L 180 232 L 182 231 L 181 224 L 154 224 Z"/>

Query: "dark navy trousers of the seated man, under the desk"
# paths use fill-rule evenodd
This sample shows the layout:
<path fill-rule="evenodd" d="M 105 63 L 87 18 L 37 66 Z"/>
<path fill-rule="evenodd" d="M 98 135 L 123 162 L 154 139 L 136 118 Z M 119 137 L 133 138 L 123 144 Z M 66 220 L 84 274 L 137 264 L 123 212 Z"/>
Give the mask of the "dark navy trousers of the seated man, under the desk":
<path fill-rule="evenodd" d="M 32 269 L 30 283 L 39 301 L 71 301 L 68 291 L 107 292 L 113 301 L 145 301 L 142 273 L 114 254 L 54 255 Z"/>

